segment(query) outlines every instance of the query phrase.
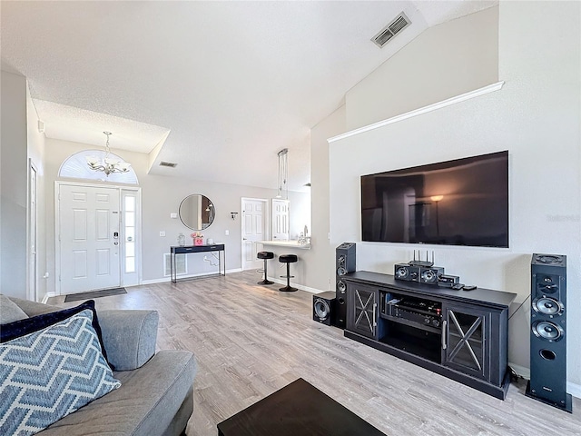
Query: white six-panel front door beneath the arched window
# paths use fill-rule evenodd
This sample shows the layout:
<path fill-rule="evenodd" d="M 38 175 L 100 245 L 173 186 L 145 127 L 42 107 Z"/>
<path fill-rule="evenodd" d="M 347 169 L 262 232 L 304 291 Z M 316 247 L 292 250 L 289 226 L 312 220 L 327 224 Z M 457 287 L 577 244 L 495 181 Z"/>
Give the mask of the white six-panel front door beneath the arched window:
<path fill-rule="evenodd" d="M 60 293 L 121 285 L 119 190 L 60 184 Z"/>

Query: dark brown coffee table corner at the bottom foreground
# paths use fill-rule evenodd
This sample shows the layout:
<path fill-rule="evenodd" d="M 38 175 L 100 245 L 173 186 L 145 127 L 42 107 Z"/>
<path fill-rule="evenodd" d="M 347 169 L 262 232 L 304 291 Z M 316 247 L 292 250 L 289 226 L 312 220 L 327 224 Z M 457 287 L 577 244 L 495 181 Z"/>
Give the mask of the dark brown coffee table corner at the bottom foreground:
<path fill-rule="evenodd" d="M 302 379 L 218 424 L 219 436 L 386 436 Z"/>

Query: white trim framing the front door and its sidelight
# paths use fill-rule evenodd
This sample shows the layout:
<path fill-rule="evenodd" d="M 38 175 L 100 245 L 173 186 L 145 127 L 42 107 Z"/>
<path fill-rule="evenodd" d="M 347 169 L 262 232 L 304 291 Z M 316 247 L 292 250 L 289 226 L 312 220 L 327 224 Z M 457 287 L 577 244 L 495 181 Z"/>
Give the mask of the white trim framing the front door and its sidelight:
<path fill-rule="evenodd" d="M 124 191 L 136 191 L 139 197 L 139 207 L 136 211 L 137 213 L 137 225 L 140 229 L 139 235 L 136 238 L 136 248 L 138 254 L 137 260 L 137 273 L 138 273 L 138 284 L 142 282 L 142 188 L 138 186 L 127 186 L 127 185 L 116 185 L 116 184 L 103 184 L 103 183 L 82 183 L 82 182 L 66 182 L 61 180 L 54 181 L 54 292 L 56 295 L 61 295 L 61 280 L 59 278 L 61 271 L 61 242 L 59 238 L 59 223 L 60 223 L 60 213 L 59 213 L 59 192 L 61 186 L 81 186 L 81 187 L 92 187 L 92 188 L 113 188 L 119 191 L 120 206 L 121 206 L 121 195 Z M 121 209 L 120 209 L 121 210 Z M 121 238 L 120 238 L 121 241 Z M 125 253 L 125 246 L 123 241 L 123 247 L 120 249 L 120 253 Z M 120 257 L 120 270 L 119 270 L 119 280 L 120 285 L 123 286 L 123 271 L 121 262 L 124 261 Z"/>

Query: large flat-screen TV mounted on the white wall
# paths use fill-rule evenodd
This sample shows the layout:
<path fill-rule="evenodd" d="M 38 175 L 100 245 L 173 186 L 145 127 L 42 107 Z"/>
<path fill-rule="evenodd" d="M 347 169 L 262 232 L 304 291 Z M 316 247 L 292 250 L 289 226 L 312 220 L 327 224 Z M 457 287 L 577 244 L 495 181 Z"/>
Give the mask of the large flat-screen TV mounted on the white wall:
<path fill-rule="evenodd" d="M 361 239 L 508 247 L 508 152 L 362 175 Z"/>

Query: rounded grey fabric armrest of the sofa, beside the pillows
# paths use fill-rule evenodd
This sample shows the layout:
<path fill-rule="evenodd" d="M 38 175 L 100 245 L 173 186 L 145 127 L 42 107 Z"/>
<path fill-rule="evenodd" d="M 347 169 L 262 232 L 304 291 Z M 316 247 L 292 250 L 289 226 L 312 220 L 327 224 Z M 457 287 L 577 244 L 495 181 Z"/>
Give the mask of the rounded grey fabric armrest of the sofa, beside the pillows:
<path fill-rule="evenodd" d="M 115 371 L 131 371 L 155 353 L 159 313 L 155 311 L 99 311 L 99 325 L 107 360 Z"/>

